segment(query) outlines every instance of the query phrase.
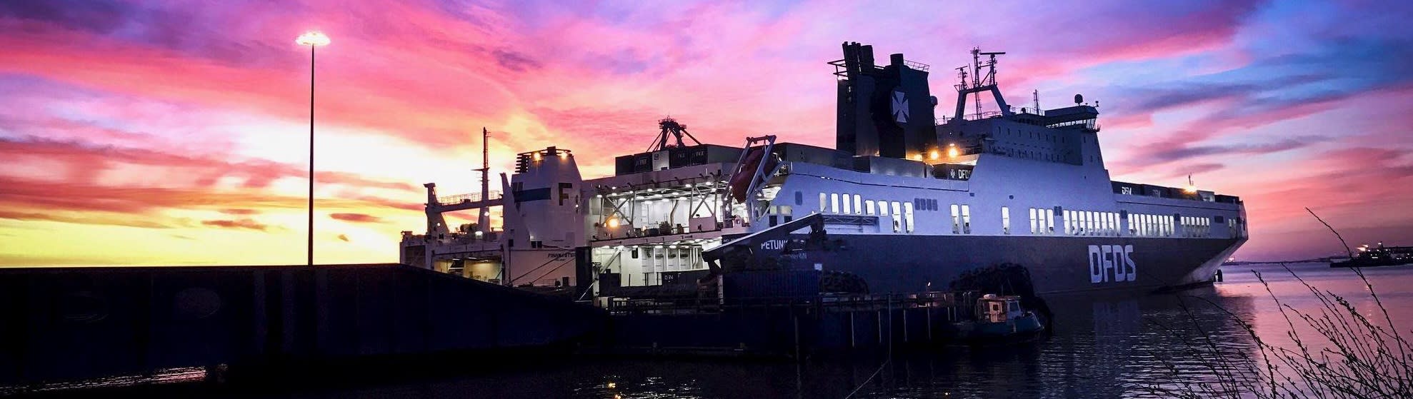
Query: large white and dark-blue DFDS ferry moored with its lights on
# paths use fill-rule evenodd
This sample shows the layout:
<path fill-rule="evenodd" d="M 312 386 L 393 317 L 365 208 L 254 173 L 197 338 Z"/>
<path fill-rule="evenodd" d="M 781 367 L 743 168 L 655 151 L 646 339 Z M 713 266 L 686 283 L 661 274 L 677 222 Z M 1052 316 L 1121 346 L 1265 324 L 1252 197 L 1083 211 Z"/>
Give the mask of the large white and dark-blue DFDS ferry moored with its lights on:
<path fill-rule="evenodd" d="M 935 290 L 969 271 L 1019 265 L 1050 295 L 1207 282 L 1246 241 L 1239 197 L 1190 180 L 1112 180 L 1098 102 L 1006 103 L 1003 52 L 971 51 L 955 109 L 938 118 L 928 65 L 901 54 L 877 65 L 858 42 L 842 49 L 828 62 L 835 148 L 773 135 L 701 144 L 664 118 L 647 151 L 615 159 L 612 176 L 582 179 L 568 149 L 523 152 L 500 190 L 489 188 L 487 164 L 480 193 L 444 197 L 427 183 L 427 231 L 403 231 L 401 262 L 577 297 L 643 292 L 694 285 L 714 274 L 704 251 L 820 214 L 832 251 L 805 268 L 852 276 L 866 292 Z M 982 111 L 988 93 L 996 110 Z M 490 224 L 497 207 L 502 228 Z M 447 226 L 442 214 L 461 210 L 478 210 L 478 221 Z"/>

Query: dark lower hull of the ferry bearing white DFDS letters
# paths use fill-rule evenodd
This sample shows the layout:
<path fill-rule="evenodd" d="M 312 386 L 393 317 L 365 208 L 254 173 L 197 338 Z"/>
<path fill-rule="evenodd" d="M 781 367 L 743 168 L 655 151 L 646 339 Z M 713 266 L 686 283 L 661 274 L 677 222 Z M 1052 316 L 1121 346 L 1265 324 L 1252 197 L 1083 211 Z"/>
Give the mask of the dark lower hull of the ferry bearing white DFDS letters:
<path fill-rule="evenodd" d="M 803 237 L 801 237 L 803 238 Z M 1210 282 L 1245 238 L 831 234 L 822 269 L 855 274 L 869 292 L 945 289 L 962 272 L 1024 266 L 1036 293 L 1156 290 Z"/>

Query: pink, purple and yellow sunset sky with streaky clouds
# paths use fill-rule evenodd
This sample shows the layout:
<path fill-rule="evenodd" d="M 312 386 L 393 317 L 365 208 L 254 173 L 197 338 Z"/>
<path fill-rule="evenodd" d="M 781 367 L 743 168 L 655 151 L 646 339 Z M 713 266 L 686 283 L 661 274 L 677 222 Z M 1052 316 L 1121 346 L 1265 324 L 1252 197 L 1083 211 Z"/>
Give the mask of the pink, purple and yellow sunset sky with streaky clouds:
<path fill-rule="evenodd" d="M 1241 259 L 1413 245 L 1410 1 L 0 1 L 0 265 L 396 262 L 421 183 L 558 145 L 585 178 L 671 116 L 834 145 L 839 44 L 972 47 L 1013 104 L 1102 103 L 1118 180 L 1241 196 Z"/>

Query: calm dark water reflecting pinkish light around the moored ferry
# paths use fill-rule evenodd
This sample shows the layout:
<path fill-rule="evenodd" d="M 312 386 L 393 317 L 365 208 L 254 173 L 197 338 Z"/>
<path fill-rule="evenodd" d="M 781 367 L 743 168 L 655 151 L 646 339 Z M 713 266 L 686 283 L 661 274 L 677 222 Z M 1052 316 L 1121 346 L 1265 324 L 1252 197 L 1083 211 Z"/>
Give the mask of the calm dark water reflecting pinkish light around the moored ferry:
<path fill-rule="evenodd" d="M 1306 282 L 1379 316 L 1364 283 L 1347 269 L 1291 264 Z M 1318 300 L 1280 265 L 1224 268 L 1226 281 L 1178 295 L 1053 297 L 1054 334 L 1012 347 L 853 361 L 551 361 L 415 383 L 363 385 L 252 398 L 1143 398 L 1143 386 L 1211 379 L 1186 348 L 1204 331 L 1226 351 L 1255 343 L 1219 305 L 1263 340 L 1289 345 L 1289 326 L 1249 271 L 1262 272 L 1283 303 L 1318 312 Z M 1366 271 L 1397 330 L 1413 330 L 1413 268 Z M 1204 300 L 1205 299 L 1205 300 Z M 1407 336 L 1406 336 L 1407 337 Z M 887 361 L 885 364 L 885 361 Z M 882 365 L 882 367 L 880 367 Z M 870 375 L 875 375 L 870 379 Z M 865 382 L 868 381 L 868 382 Z M 612 383 L 612 386 L 610 386 Z M 855 392 L 858 389 L 858 392 Z M 215 395 L 246 396 L 246 395 Z"/>

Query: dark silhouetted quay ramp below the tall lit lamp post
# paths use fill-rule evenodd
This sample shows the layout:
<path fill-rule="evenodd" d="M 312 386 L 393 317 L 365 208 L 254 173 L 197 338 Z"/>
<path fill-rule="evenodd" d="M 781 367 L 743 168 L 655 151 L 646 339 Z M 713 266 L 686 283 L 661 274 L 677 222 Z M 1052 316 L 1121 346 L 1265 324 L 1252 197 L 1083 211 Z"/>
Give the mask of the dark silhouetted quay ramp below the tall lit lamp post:
<path fill-rule="evenodd" d="M 608 313 L 397 264 L 0 269 L 0 388 L 568 347 Z M 568 350 L 564 350 L 568 351 Z"/>

